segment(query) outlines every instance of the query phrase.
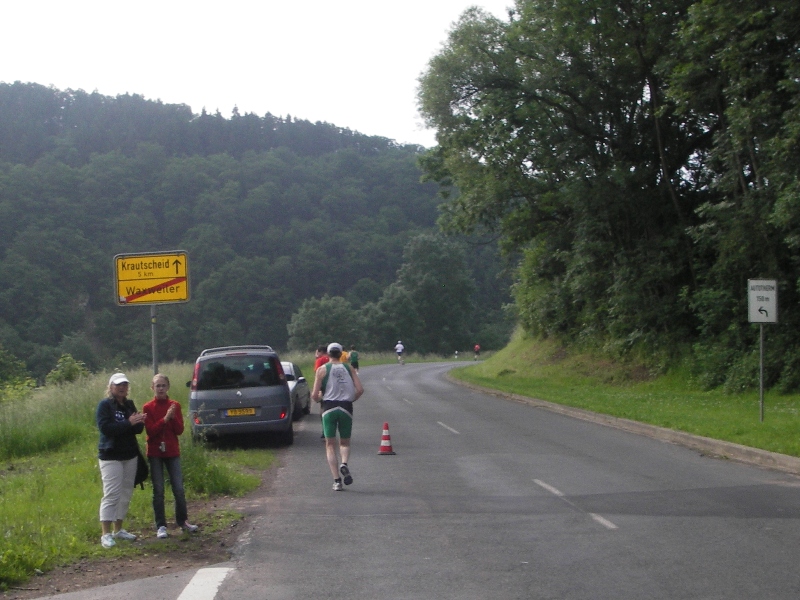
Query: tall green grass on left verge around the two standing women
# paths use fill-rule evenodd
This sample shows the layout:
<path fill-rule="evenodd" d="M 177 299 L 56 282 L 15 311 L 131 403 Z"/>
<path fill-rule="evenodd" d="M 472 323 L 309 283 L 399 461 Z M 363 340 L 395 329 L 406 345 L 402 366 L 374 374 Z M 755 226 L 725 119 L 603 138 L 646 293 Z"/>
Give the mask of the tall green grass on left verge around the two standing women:
<path fill-rule="evenodd" d="M 162 366 L 172 381 L 170 396 L 186 412 L 191 366 Z M 137 408 L 148 401 L 152 372 L 127 371 Z M 118 544 L 104 550 L 98 541 L 102 483 L 97 462 L 95 409 L 105 394 L 109 374 L 92 375 L 72 384 L 46 387 L 0 405 L 0 589 L 25 581 L 37 569 L 97 554 L 142 552 Z M 188 425 L 188 424 L 187 424 Z M 140 444 L 144 445 L 144 435 Z M 240 496 L 257 487 L 259 471 L 269 468 L 269 449 L 208 449 L 187 434 L 181 441 L 181 465 L 187 498 Z M 167 486 L 168 518 L 173 502 Z M 192 515 L 205 527 L 221 527 L 219 515 Z M 134 533 L 153 529 L 152 488 L 134 491 L 125 527 Z M 202 532 L 201 532 L 202 535 Z"/>

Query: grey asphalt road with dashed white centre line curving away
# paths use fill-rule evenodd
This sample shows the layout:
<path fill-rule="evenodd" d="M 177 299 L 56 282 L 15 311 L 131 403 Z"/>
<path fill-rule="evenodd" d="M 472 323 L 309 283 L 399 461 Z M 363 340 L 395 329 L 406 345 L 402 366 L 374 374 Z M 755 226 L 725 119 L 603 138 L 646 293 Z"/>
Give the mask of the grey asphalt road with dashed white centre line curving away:
<path fill-rule="evenodd" d="M 461 388 L 452 366 L 362 369 L 344 492 L 301 421 L 216 599 L 800 597 L 800 478 Z"/>

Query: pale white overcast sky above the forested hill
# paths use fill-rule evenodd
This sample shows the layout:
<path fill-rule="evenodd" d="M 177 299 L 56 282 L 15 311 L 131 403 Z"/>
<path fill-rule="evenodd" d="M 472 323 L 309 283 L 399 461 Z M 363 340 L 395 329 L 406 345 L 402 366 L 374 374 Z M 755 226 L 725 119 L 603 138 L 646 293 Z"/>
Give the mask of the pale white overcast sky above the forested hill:
<path fill-rule="evenodd" d="M 428 61 L 470 6 L 513 0 L 25 0 L 3 8 L 0 82 L 140 94 L 229 117 L 292 115 L 435 145 Z"/>

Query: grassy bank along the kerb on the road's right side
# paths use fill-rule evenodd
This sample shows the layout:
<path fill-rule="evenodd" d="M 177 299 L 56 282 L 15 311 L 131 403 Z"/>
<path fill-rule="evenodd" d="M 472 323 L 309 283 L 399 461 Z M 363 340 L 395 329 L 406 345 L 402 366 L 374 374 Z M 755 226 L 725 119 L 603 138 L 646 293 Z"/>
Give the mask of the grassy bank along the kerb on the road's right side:
<path fill-rule="evenodd" d="M 453 376 L 488 388 L 800 456 L 800 394 L 704 389 L 685 367 L 664 374 L 629 362 L 564 350 L 517 333 L 505 349 Z"/>

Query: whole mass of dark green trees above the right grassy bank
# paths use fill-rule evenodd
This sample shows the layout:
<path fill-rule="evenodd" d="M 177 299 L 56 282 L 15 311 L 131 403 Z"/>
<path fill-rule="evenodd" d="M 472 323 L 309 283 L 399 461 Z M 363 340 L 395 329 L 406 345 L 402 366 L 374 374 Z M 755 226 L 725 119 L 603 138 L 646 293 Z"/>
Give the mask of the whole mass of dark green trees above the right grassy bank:
<path fill-rule="evenodd" d="M 523 326 L 758 384 L 748 279 L 778 282 L 765 378 L 800 388 L 800 4 L 517 0 L 421 78 L 450 231 L 522 255 Z"/>

